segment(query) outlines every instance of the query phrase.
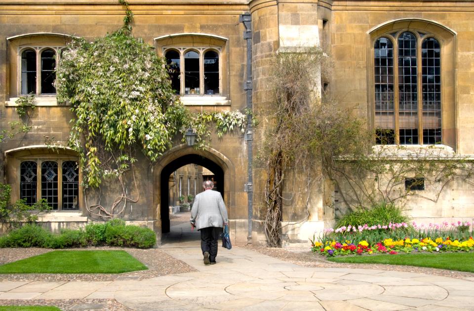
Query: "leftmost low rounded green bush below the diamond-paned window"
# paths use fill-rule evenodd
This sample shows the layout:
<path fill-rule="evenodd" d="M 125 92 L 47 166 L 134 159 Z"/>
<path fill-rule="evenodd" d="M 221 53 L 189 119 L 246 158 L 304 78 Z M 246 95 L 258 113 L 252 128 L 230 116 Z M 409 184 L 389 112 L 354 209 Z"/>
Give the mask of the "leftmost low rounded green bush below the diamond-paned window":
<path fill-rule="evenodd" d="M 48 247 L 52 234 L 38 225 L 26 224 L 2 238 L 2 247 Z"/>

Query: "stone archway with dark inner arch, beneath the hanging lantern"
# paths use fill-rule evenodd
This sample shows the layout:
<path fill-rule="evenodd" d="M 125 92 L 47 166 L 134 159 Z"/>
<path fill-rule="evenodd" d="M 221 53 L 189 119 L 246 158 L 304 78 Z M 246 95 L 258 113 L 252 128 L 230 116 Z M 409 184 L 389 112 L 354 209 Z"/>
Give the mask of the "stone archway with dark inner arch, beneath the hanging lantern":
<path fill-rule="evenodd" d="M 154 230 L 159 237 L 169 231 L 168 177 L 179 167 L 192 163 L 206 167 L 216 177 L 219 176 L 217 190 L 224 198 L 229 219 L 235 217 L 235 168 L 229 158 L 209 147 L 195 150 L 184 144 L 179 145 L 167 151 L 153 168 L 153 209 L 149 211 L 149 217 L 155 219 Z"/>

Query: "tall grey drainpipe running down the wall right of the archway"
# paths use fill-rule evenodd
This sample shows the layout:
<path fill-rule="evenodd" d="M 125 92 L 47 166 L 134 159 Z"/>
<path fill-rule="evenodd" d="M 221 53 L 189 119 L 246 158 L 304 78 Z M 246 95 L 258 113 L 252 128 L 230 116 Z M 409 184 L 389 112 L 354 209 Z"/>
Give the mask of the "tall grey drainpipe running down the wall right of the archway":
<path fill-rule="evenodd" d="M 247 142 L 247 183 L 245 192 L 247 193 L 248 210 L 248 234 L 247 244 L 252 244 L 252 221 L 253 221 L 253 164 L 252 164 L 252 16 L 249 13 L 239 16 L 238 21 L 245 26 L 243 39 L 247 41 L 247 75 L 243 89 L 247 92 L 247 131 L 245 141 Z"/>

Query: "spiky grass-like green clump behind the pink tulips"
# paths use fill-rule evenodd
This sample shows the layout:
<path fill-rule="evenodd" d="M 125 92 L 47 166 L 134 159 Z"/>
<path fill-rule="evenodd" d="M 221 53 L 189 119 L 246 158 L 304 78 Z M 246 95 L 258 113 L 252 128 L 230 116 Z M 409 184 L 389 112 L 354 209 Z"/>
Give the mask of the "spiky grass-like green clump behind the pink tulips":
<path fill-rule="evenodd" d="M 367 224 L 388 225 L 389 223 L 408 223 L 409 217 L 402 214 L 402 210 L 393 203 L 382 202 L 370 208 L 357 208 L 338 220 L 336 228 L 342 226 L 358 226 Z"/>

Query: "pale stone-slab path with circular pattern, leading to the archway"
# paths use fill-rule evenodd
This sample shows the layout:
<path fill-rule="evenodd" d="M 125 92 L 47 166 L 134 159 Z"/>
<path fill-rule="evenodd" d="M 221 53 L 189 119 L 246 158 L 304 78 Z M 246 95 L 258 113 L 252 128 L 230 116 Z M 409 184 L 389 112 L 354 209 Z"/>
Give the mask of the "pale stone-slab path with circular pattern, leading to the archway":
<path fill-rule="evenodd" d="M 173 311 L 474 310 L 474 280 L 305 268 L 238 247 L 219 247 L 217 264 L 205 266 L 199 247 L 185 243 L 162 249 L 198 272 L 105 282 L 5 281 L 0 299 L 115 298 L 132 310 Z"/>

